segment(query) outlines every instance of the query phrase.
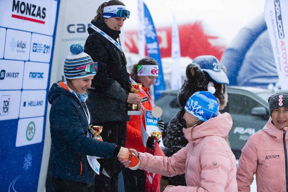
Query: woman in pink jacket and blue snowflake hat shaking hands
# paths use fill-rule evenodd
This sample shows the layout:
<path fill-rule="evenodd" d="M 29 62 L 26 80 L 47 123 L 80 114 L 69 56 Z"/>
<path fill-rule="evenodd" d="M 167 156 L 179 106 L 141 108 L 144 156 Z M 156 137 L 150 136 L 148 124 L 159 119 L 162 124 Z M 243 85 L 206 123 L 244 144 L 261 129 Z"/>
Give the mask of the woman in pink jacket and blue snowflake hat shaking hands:
<path fill-rule="evenodd" d="M 236 166 L 228 143 L 223 138 L 232 127 L 228 113 L 220 115 L 219 104 L 209 91 L 194 93 L 186 102 L 183 119 L 187 129 L 184 136 L 189 143 L 172 157 L 153 156 L 149 153 L 134 152 L 141 162 L 139 169 L 173 177 L 185 173 L 186 186 L 167 186 L 168 191 L 216 191 L 236 192 Z M 176 139 L 176 138 L 175 138 Z M 127 167 L 130 161 L 119 160 Z"/>

